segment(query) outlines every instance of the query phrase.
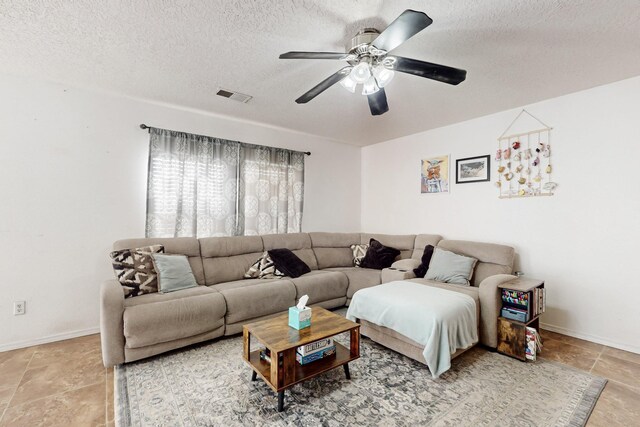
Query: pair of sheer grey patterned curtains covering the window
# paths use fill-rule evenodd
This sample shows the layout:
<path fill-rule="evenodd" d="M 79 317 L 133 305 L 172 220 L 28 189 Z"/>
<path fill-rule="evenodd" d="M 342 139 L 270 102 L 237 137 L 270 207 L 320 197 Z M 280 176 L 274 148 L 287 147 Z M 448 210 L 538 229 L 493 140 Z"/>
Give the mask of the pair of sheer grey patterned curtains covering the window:
<path fill-rule="evenodd" d="M 299 232 L 304 154 L 150 129 L 147 237 Z"/>

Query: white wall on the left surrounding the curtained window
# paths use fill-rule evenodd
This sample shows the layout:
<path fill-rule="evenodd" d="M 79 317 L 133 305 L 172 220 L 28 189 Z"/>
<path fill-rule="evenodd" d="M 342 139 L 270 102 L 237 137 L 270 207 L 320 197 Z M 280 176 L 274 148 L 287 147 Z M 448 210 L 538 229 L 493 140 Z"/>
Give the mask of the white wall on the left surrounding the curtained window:
<path fill-rule="evenodd" d="M 360 229 L 358 147 L 0 75 L 0 351 L 97 331 L 99 286 L 113 277 L 110 246 L 144 235 L 148 134 L 140 123 L 311 151 L 304 230 Z M 15 300 L 27 301 L 26 315 L 12 315 Z"/>

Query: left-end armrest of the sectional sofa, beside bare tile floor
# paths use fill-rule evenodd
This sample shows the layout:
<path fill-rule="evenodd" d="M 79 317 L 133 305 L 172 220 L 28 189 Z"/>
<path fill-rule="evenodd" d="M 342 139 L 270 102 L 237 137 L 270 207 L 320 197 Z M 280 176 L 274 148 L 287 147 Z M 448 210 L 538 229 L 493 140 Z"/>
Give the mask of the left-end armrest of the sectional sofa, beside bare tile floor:
<path fill-rule="evenodd" d="M 124 292 L 117 280 L 100 287 L 100 341 L 105 367 L 124 363 Z"/>

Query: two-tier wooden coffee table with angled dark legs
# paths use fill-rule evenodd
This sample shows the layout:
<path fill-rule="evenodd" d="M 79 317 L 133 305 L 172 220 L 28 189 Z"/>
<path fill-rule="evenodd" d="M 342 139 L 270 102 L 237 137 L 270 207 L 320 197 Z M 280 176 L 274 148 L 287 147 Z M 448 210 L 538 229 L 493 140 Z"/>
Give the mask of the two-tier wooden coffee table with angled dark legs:
<path fill-rule="evenodd" d="M 289 325 L 289 314 L 242 326 L 244 335 L 244 360 L 253 373 L 259 375 L 273 391 L 278 393 L 278 412 L 284 407 L 284 391 L 294 384 L 313 378 L 323 372 L 344 367 L 347 379 L 351 379 L 348 363 L 360 357 L 360 325 L 321 307 L 311 309 L 311 326 L 297 330 Z M 336 353 L 323 359 L 300 365 L 296 361 L 296 349 L 323 338 L 350 332 L 350 348 L 339 343 Z M 271 363 L 260 359 L 260 350 L 250 351 L 251 339 L 257 339 L 271 351 Z"/>

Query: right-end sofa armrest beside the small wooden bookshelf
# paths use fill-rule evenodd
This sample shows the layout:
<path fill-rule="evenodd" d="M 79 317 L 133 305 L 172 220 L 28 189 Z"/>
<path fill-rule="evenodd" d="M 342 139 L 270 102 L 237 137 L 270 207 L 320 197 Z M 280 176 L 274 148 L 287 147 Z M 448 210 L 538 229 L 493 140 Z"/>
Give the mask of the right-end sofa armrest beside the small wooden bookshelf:
<path fill-rule="evenodd" d="M 480 282 L 480 342 L 488 347 L 498 346 L 498 317 L 502 308 L 498 286 L 515 278 L 511 274 L 496 274 Z"/>

